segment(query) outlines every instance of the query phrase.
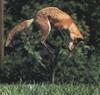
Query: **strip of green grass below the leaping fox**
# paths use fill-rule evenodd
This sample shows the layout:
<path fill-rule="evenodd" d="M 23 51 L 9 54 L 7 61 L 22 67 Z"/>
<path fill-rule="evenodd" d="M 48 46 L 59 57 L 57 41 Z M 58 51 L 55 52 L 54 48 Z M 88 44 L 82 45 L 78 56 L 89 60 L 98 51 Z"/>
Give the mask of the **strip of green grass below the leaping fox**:
<path fill-rule="evenodd" d="M 0 95 L 100 95 L 100 85 L 1 84 Z"/>

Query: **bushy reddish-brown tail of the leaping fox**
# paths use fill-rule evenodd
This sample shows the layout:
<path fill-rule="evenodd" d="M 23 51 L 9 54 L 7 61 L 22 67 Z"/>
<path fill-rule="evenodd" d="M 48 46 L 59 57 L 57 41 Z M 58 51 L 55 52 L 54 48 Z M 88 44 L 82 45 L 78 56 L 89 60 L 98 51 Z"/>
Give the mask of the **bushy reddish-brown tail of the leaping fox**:
<path fill-rule="evenodd" d="M 5 46 L 7 47 L 7 46 L 11 43 L 11 41 L 12 41 L 14 35 L 15 35 L 17 32 L 21 31 L 22 29 L 25 29 L 26 27 L 29 27 L 29 26 L 32 24 L 33 21 L 34 21 L 34 19 L 32 18 L 32 19 L 25 20 L 25 21 L 21 22 L 20 24 L 16 25 L 16 26 L 9 32 L 9 34 L 8 34 L 8 36 L 7 36 L 7 40 L 6 40 Z"/>

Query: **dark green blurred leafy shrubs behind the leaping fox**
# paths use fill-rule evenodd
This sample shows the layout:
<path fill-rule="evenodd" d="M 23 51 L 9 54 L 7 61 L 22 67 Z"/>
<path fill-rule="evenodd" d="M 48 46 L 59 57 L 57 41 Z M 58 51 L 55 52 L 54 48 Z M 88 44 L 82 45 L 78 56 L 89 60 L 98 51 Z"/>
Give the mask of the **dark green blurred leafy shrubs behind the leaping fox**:
<path fill-rule="evenodd" d="M 0 67 L 1 83 L 19 81 L 55 83 L 100 82 L 100 1 L 98 0 L 5 0 L 5 39 L 19 22 L 34 17 L 44 7 L 55 6 L 67 12 L 85 35 L 85 45 L 68 51 L 68 30 L 64 41 L 54 28 L 48 42 L 50 54 L 40 44 L 41 32 L 35 25 L 18 33 L 5 47 L 5 63 Z"/>

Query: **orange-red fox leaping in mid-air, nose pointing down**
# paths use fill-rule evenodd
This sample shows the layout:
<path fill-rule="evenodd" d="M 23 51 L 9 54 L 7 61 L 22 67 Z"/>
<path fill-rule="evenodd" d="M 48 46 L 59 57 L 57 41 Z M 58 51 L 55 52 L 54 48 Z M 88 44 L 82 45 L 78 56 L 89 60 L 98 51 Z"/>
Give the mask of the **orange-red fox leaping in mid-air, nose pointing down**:
<path fill-rule="evenodd" d="M 42 30 L 41 43 L 46 48 L 48 48 L 46 40 L 51 31 L 51 23 L 53 23 L 54 27 L 56 27 L 59 31 L 62 29 L 69 29 L 71 41 L 69 42 L 68 47 L 70 50 L 73 50 L 77 46 L 78 39 L 84 39 L 79 28 L 74 23 L 70 15 L 63 12 L 57 7 L 46 7 L 37 12 L 37 14 L 35 15 L 35 19 L 32 18 L 29 20 L 25 20 L 15 26 L 8 34 L 6 46 L 10 44 L 13 36 L 17 32 L 30 26 L 34 20 Z"/>

